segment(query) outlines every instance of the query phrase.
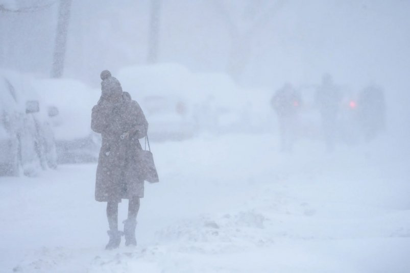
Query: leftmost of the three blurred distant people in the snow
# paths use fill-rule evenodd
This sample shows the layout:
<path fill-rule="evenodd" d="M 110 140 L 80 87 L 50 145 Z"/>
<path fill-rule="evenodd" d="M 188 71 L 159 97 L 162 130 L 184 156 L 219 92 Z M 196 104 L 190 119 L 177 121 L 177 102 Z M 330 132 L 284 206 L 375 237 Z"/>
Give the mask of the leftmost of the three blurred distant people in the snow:
<path fill-rule="evenodd" d="M 296 127 L 301 98 L 290 83 L 275 92 L 271 105 L 278 115 L 281 152 L 291 152 L 296 137 Z"/>

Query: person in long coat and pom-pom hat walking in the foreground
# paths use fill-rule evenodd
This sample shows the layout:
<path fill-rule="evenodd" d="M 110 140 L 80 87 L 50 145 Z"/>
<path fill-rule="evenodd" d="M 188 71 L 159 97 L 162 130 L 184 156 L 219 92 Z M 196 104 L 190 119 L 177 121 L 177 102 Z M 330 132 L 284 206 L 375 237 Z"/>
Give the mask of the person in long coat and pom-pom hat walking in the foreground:
<path fill-rule="evenodd" d="M 144 195 L 138 141 L 147 134 L 148 122 L 138 103 L 123 92 L 117 79 L 108 70 L 101 73 L 101 98 L 92 108 L 91 129 L 102 135 L 95 200 L 107 202 L 109 242 L 106 249 L 115 249 L 123 233 L 118 231 L 118 203 L 128 199 L 128 218 L 124 221 L 126 245 L 136 245 L 135 227 L 139 198 Z"/>

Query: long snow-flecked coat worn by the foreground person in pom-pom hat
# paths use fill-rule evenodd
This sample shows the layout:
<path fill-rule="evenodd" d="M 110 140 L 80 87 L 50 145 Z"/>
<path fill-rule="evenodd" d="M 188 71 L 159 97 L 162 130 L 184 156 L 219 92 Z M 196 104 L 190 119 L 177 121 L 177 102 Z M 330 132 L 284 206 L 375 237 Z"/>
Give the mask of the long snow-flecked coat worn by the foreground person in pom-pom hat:
<path fill-rule="evenodd" d="M 91 129 L 102 135 L 95 200 L 121 202 L 122 198 L 143 197 L 138 139 L 146 136 L 148 122 L 138 103 L 127 92 L 116 104 L 100 99 L 92 108 Z"/>

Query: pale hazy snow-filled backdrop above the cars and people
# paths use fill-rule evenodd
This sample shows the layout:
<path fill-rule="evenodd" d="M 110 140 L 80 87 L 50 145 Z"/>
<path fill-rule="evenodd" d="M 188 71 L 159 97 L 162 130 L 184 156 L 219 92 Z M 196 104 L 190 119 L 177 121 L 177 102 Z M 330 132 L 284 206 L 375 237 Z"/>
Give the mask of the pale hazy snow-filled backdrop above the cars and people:
<path fill-rule="evenodd" d="M 0 65 L 48 77 L 58 1 L 2 2 Z M 159 1 L 158 63 L 223 72 L 272 92 L 285 81 L 385 88 L 389 126 L 409 116 L 410 1 Z M 63 77 L 99 87 L 99 73 L 145 64 L 151 2 L 73 0 Z M 252 94 L 249 94 L 250 96 Z M 393 117 L 392 117 L 393 115 Z M 408 131 L 407 131 L 408 134 Z"/>

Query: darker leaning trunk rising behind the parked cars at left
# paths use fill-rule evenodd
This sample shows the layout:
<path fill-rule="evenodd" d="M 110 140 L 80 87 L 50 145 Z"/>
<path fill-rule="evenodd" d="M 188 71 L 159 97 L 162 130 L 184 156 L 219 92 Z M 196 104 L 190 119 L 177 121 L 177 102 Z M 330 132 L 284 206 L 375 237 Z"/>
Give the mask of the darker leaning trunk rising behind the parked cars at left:
<path fill-rule="evenodd" d="M 53 68 L 51 71 L 52 78 L 60 78 L 63 75 L 70 7 L 71 0 L 60 0 Z"/>

